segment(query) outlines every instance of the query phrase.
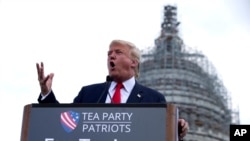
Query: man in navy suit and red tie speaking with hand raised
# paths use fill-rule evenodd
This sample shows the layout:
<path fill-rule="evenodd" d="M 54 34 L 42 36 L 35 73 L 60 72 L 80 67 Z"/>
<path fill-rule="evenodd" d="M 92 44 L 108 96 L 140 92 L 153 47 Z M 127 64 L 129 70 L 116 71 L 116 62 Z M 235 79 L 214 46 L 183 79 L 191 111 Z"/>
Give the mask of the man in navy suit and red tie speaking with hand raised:
<path fill-rule="evenodd" d="M 109 46 L 107 61 L 108 78 L 112 80 L 82 87 L 73 103 L 166 103 L 161 93 L 136 81 L 139 63 L 140 51 L 134 44 L 113 40 Z M 37 63 L 36 67 L 41 87 L 39 103 L 59 103 L 51 88 L 54 74 L 45 77 L 43 63 Z M 181 128 L 179 135 L 183 138 L 187 133 L 188 123 L 179 119 L 178 124 Z"/>

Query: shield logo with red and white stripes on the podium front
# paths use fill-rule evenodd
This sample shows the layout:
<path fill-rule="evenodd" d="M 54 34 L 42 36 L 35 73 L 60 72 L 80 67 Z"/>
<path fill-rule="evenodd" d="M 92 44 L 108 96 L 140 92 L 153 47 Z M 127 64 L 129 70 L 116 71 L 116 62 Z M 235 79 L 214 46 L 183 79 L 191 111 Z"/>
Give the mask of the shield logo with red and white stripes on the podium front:
<path fill-rule="evenodd" d="M 61 125 L 63 129 L 70 133 L 78 124 L 80 114 L 74 111 L 67 111 L 61 113 Z"/>

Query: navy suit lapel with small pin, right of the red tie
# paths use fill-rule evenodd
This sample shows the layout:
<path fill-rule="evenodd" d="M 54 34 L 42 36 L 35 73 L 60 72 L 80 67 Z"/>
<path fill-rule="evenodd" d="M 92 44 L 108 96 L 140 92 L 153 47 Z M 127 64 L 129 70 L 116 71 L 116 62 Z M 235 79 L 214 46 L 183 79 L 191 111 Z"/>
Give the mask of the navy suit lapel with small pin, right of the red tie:
<path fill-rule="evenodd" d="M 126 103 L 141 103 L 142 99 L 143 93 L 141 90 L 141 86 L 136 82 Z"/>

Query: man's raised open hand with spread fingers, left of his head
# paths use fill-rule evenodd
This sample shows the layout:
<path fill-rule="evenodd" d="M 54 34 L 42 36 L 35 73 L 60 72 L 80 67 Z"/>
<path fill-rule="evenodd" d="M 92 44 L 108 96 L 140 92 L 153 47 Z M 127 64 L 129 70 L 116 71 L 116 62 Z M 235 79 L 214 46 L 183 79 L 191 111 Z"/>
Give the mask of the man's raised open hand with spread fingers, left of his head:
<path fill-rule="evenodd" d="M 41 62 L 41 64 L 36 63 L 36 69 L 38 74 L 38 81 L 41 88 L 41 94 L 45 96 L 51 91 L 54 74 L 50 73 L 45 77 L 43 62 Z"/>

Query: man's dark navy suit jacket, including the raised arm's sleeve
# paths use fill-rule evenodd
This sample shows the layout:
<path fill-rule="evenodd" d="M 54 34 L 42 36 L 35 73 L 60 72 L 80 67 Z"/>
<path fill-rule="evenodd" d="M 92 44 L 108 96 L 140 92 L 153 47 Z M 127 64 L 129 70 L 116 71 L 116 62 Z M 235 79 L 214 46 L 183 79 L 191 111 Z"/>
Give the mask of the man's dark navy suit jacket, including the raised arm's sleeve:
<path fill-rule="evenodd" d="M 105 103 L 108 94 L 107 87 L 107 83 L 84 86 L 73 103 Z M 39 103 L 59 103 L 53 91 L 44 100 L 41 100 L 39 96 L 38 101 Z M 127 103 L 166 103 L 166 100 L 161 93 L 136 82 Z"/>

